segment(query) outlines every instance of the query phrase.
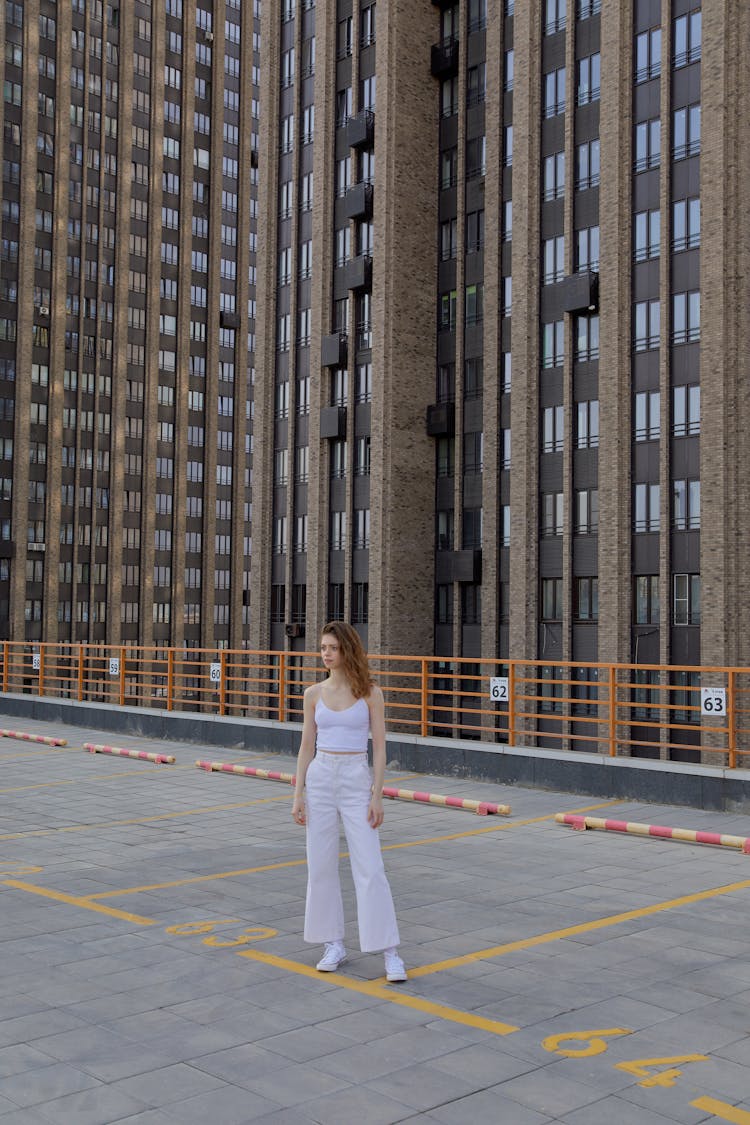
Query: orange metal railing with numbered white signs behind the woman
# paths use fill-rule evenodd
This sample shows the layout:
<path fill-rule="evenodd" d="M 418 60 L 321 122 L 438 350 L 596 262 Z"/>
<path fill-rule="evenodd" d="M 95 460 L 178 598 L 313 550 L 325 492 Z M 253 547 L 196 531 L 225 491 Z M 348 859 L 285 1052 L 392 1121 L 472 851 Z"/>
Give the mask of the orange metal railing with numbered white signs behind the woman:
<path fill-rule="evenodd" d="M 2 693 L 301 722 L 317 652 L 0 645 Z M 389 730 L 750 765 L 750 669 L 373 655 Z"/>

